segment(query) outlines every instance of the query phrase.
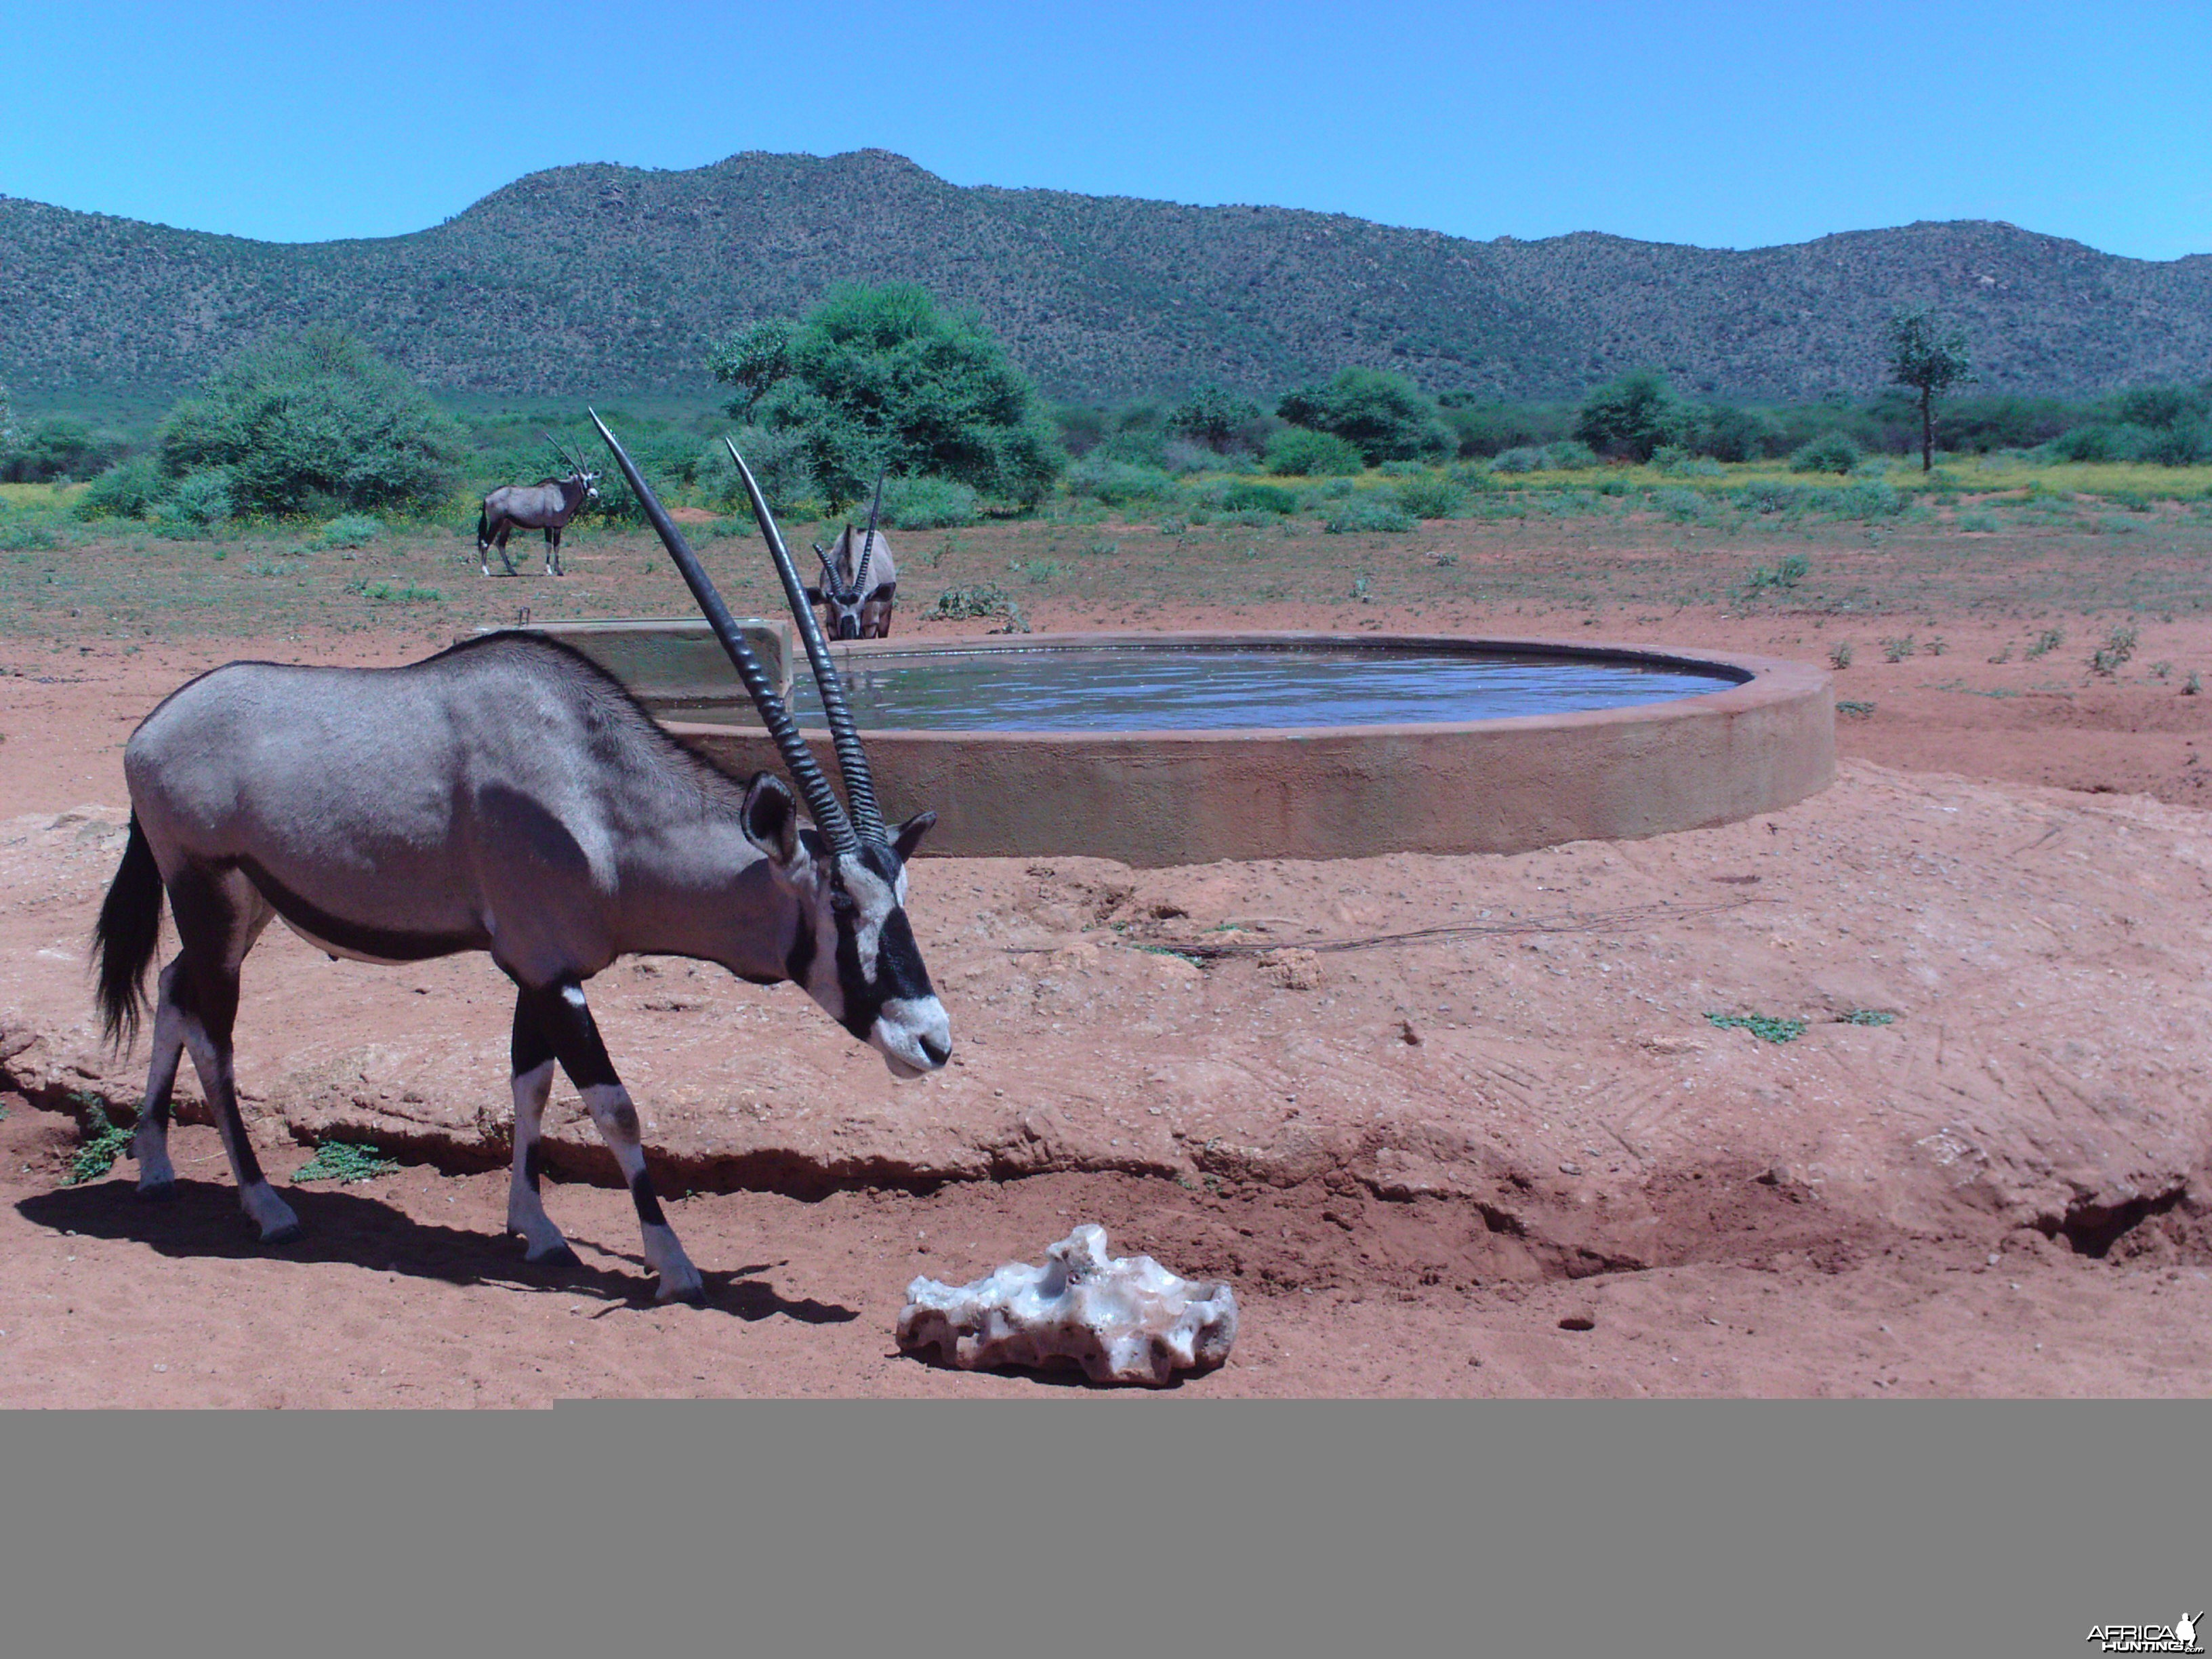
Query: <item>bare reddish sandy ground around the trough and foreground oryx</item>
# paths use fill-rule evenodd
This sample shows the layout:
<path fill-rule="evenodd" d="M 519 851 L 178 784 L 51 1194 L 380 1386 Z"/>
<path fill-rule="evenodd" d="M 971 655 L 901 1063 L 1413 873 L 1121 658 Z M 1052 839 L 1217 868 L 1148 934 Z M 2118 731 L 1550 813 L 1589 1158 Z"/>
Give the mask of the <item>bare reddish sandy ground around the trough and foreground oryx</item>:
<path fill-rule="evenodd" d="M 1073 597 L 1033 619 L 1128 624 Z M 1531 604 L 1491 626 L 1586 619 Z M 1345 622 L 1292 602 L 1141 617 Z M 1411 604 L 1356 622 L 1469 626 Z M 1836 787 L 1522 858 L 927 860 L 916 929 L 960 1064 L 918 1086 L 787 989 L 679 962 L 602 975 L 703 1310 L 650 1303 L 566 1088 L 549 1208 L 584 1265 L 542 1276 L 500 1237 L 509 998 L 480 958 L 332 964 L 272 931 L 250 960 L 239 1071 L 265 1161 L 296 1168 L 325 1135 L 407 1159 L 294 1188 L 301 1243 L 248 1243 L 206 1128 L 179 1130 L 177 1206 L 137 1206 L 128 1161 L 62 1186 L 86 1102 L 128 1115 L 142 1082 L 142 1055 L 97 1053 L 82 967 L 131 723 L 230 657 L 425 641 L 20 653 L 0 679 L 0 1405 L 1071 1387 L 905 1360 L 889 1329 L 914 1274 L 1033 1261 L 1079 1219 L 1237 1283 L 1237 1354 L 1179 1396 L 2201 1394 L 2205 699 L 2084 675 L 2084 617 L 2064 672 L 2022 655 L 2042 624 L 1971 604 L 1933 626 L 1725 606 L 1601 624 L 1812 661 L 1851 637 L 1838 697 L 1871 712 L 1840 726 Z M 2146 617 L 2137 655 L 2208 661 L 2212 624 Z M 1458 931 L 1389 938 L 1440 925 Z M 1770 1044 L 1712 1013 L 1807 1029 Z"/>

